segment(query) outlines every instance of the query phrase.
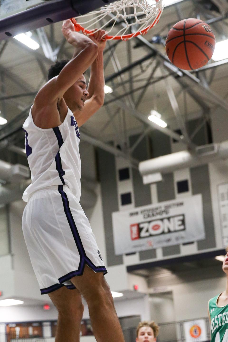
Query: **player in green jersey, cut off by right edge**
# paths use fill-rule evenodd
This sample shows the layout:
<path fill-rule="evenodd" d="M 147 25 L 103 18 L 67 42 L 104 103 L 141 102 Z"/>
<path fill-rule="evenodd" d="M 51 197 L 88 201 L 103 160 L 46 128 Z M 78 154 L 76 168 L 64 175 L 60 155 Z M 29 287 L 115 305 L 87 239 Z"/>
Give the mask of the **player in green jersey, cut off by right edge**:
<path fill-rule="evenodd" d="M 226 273 L 226 289 L 208 302 L 208 315 L 211 322 L 211 342 L 228 340 L 228 248 L 223 262 Z"/>

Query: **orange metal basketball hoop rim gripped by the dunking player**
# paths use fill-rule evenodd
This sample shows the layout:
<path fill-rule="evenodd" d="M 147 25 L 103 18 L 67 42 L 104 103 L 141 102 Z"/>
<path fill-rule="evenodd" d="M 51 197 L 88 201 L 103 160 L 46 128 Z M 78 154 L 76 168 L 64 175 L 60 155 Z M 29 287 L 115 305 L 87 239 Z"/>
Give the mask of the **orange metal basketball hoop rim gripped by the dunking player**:
<path fill-rule="evenodd" d="M 135 32 L 135 33 L 131 33 L 131 34 L 128 34 L 128 35 L 122 35 L 122 36 L 107 36 L 106 37 L 106 40 L 129 40 L 133 37 L 137 37 L 139 35 L 145 35 L 153 26 L 155 26 L 156 24 L 158 24 L 159 22 L 159 19 L 160 19 L 160 16 L 162 14 L 162 10 L 159 9 L 158 11 L 158 15 L 156 16 L 156 18 L 154 19 L 154 21 L 148 25 L 146 28 L 144 28 L 143 30 L 141 31 L 138 31 L 138 32 Z M 71 22 L 73 23 L 73 25 L 75 26 L 75 30 L 76 31 L 82 31 L 82 33 L 84 35 L 92 35 L 93 34 L 93 31 L 92 30 L 88 30 L 88 29 L 85 29 L 83 26 L 81 26 L 75 18 L 71 18 L 70 19 Z"/>

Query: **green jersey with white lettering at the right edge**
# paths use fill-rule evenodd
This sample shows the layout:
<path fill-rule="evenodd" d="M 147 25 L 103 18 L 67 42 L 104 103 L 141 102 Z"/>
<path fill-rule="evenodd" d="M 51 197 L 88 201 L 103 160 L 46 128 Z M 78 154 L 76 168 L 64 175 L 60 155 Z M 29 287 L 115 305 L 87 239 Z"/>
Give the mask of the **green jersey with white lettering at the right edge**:
<path fill-rule="evenodd" d="M 209 313 L 211 317 L 211 342 L 228 341 L 228 305 L 219 307 L 218 297 L 210 299 Z"/>

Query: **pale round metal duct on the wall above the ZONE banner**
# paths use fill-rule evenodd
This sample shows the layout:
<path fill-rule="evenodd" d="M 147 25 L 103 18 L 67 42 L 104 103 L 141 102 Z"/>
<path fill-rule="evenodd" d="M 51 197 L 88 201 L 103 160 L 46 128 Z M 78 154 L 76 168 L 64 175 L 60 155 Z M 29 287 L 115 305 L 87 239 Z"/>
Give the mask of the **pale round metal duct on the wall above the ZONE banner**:
<path fill-rule="evenodd" d="M 166 156 L 145 160 L 139 163 L 142 176 L 153 173 L 169 173 L 178 169 L 190 168 L 228 158 L 228 140 L 220 144 L 199 146 L 195 152 L 180 151 Z"/>

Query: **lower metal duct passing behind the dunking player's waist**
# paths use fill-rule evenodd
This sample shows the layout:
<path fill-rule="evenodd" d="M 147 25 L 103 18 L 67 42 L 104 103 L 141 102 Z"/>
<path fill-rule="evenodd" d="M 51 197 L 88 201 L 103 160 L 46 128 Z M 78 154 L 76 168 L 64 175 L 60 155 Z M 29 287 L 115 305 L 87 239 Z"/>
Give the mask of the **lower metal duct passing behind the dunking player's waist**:
<path fill-rule="evenodd" d="M 0 186 L 0 205 L 21 200 L 23 192 L 30 184 L 31 180 L 28 179 L 22 181 L 21 183 Z M 93 182 L 93 184 L 95 185 L 96 183 Z M 83 209 L 89 209 L 95 206 L 97 195 L 91 189 L 90 185 L 90 188 L 85 187 L 85 185 L 86 180 L 83 180 L 80 203 Z"/>

